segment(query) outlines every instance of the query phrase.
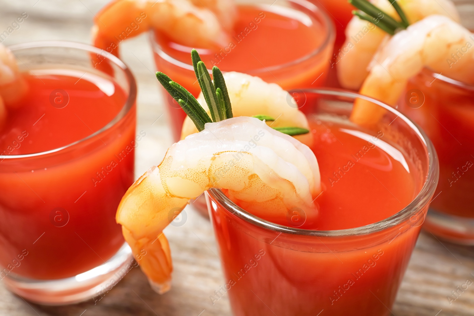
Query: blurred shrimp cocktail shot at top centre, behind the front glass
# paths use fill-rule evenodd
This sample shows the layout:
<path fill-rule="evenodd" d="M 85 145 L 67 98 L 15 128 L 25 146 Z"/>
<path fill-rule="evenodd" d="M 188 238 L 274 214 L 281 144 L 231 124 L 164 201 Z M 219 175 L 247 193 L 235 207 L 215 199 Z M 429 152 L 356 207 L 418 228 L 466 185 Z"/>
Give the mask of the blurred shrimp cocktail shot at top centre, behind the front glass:
<path fill-rule="evenodd" d="M 335 40 L 332 21 L 309 0 L 114 0 L 97 14 L 92 37 L 118 56 L 122 41 L 147 30 L 156 68 L 195 97 L 193 47 L 206 64 L 291 90 L 324 85 Z M 177 141 L 186 114 L 171 97 L 165 105 Z"/>

